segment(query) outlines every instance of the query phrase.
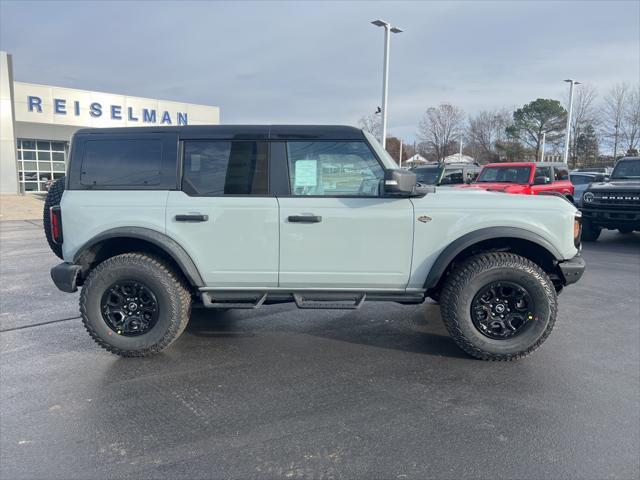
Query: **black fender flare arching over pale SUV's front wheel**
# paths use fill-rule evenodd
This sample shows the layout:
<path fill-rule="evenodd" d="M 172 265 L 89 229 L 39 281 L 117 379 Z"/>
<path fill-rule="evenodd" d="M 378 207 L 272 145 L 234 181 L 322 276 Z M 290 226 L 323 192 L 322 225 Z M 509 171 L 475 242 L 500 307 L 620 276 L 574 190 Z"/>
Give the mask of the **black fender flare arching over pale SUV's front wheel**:
<path fill-rule="evenodd" d="M 475 245 L 476 243 L 480 243 L 485 240 L 492 240 L 494 238 L 517 238 L 520 240 L 527 240 L 547 250 L 557 261 L 563 260 L 562 254 L 558 249 L 544 237 L 535 232 L 517 227 L 481 228 L 457 238 L 451 242 L 447 248 L 442 251 L 442 253 L 440 253 L 431 267 L 431 270 L 429 270 L 429 274 L 427 275 L 427 279 L 424 284 L 425 289 L 428 290 L 430 288 L 434 288 L 438 284 L 449 264 L 460 252 L 472 245 Z"/>

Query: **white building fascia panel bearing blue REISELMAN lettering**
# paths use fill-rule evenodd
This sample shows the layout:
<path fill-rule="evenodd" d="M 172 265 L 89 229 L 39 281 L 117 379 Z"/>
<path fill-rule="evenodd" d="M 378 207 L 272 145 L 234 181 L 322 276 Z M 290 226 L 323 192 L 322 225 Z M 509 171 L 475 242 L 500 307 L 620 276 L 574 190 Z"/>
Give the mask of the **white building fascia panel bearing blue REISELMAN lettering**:
<path fill-rule="evenodd" d="M 17 122 L 78 128 L 220 123 L 218 107 L 32 83 L 14 82 L 13 103 Z"/>

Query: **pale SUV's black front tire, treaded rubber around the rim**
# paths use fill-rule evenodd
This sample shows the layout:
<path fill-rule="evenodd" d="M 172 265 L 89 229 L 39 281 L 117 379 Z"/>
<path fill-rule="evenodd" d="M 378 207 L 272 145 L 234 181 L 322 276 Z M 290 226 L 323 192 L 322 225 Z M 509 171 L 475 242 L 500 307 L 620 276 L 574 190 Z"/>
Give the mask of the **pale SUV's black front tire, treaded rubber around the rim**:
<path fill-rule="evenodd" d="M 512 338 L 489 338 L 471 318 L 473 298 L 495 281 L 522 285 L 535 304 L 536 318 Z M 502 252 L 476 255 L 457 266 L 446 279 L 440 299 L 442 320 L 453 340 L 469 355 L 482 360 L 511 361 L 532 353 L 553 330 L 557 309 L 557 294 L 549 276 L 531 260 Z"/>

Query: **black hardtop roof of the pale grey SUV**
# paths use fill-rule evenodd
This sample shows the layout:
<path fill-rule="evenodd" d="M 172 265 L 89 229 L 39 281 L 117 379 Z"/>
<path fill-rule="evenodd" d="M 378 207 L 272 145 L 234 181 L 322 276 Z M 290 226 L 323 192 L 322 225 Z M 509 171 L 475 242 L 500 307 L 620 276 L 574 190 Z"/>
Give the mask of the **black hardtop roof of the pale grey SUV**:
<path fill-rule="evenodd" d="M 362 140 L 362 130 L 345 125 L 185 125 L 83 128 L 76 135 L 144 135 L 176 132 L 180 138 L 253 140 Z"/>

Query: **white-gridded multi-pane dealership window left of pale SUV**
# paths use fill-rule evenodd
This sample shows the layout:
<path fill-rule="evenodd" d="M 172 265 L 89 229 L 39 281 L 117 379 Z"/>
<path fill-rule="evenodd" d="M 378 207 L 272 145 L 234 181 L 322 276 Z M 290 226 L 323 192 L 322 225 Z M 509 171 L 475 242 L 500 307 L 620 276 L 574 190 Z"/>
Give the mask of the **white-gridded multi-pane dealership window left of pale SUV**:
<path fill-rule="evenodd" d="M 21 191 L 45 192 L 50 181 L 64 176 L 67 142 L 20 138 L 16 147 Z"/>

